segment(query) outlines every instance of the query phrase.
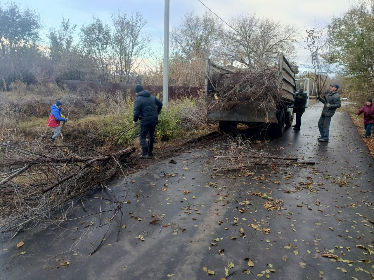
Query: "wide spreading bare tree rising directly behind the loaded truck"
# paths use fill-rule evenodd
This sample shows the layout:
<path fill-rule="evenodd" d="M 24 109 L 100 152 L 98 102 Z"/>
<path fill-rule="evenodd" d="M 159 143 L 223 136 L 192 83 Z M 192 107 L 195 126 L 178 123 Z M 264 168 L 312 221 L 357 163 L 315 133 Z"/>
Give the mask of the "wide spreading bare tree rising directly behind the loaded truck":
<path fill-rule="evenodd" d="M 276 62 L 279 53 L 295 53 L 296 28 L 280 21 L 257 18 L 255 14 L 242 14 L 230 19 L 224 32 L 219 56 L 231 64 L 253 67 Z"/>

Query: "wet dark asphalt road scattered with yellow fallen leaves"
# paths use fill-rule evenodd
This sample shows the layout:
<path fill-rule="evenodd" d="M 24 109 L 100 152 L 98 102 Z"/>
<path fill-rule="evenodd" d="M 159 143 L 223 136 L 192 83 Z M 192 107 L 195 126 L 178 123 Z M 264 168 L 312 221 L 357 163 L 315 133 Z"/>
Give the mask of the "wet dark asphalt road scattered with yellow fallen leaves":
<path fill-rule="evenodd" d="M 123 205 L 123 224 L 117 215 L 103 246 L 90 257 L 106 227 L 82 234 L 91 221 L 99 224 L 98 215 L 60 228 L 36 227 L 10 241 L 3 235 L 0 279 L 205 280 L 227 277 L 225 267 L 230 280 L 372 279 L 374 160 L 346 113 L 332 118 L 330 142 L 317 142 L 321 108 L 307 109 L 300 131 L 288 128 L 267 144 L 275 154 L 315 165 L 258 169 L 252 177 L 215 174 L 212 152 L 197 144 L 175 157 L 176 164 L 165 160 L 128 177 L 131 203 Z M 122 185 L 118 180 L 108 187 L 123 196 Z M 253 195 L 259 192 L 272 199 Z M 100 197 L 101 190 L 92 196 Z M 264 208 L 277 199 L 279 210 Z M 88 213 L 99 205 L 100 199 L 85 201 Z M 79 203 L 76 207 L 76 215 L 87 214 Z M 162 221 L 150 223 L 157 218 Z M 25 245 L 17 248 L 20 241 Z M 327 253 L 336 257 L 322 256 Z M 70 263 L 64 267 L 56 258 Z M 250 274 L 242 274 L 246 269 Z"/>

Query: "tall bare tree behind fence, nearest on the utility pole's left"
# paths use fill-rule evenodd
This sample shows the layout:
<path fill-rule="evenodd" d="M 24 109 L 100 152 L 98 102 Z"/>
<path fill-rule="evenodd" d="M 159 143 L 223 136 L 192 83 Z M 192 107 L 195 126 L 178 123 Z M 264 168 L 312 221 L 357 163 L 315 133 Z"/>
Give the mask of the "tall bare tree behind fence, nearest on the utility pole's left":
<path fill-rule="evenodd" d="M 147 21 L 139 12 L 128 16 L 122 10 L 111 17 L 114 26 L 112 47 L 115 74 L 119 76 L 120 82 L 129 83 L 131 73 L 143 62 L 149 48 L 150 39 L 142 32 Z"/>

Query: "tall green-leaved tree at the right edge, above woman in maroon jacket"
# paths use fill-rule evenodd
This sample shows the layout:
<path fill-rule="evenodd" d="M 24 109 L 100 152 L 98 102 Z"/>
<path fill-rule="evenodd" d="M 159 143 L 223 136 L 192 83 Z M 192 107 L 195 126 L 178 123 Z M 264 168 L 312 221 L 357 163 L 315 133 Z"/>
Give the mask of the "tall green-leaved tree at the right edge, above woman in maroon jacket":
<path fill-rule="evenodd" d="M 329 25 L 336 61 L 344 66 L 353 98 L 372 96 L 374 86 L 374 1 L 359 0 Z"/>

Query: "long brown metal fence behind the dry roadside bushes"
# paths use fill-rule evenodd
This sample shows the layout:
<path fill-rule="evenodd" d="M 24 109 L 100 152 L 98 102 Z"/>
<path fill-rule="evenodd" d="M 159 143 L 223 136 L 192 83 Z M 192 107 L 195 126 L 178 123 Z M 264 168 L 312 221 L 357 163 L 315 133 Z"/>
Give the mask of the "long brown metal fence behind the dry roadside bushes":
<path fill-rule="evenodd" d="M 110 82 L 91 82 L 91 81 L 73 81 L 58 79 L 59 86 L 65 86 L 72 91 L 88 92 L 88 91 L 105 91 L 105 92 L 122 92 L 123 98 L 135 97 L 134 84 L 119 84 Z M 142 85 L 144 89 L 150 91 L 154 95 L 162 98 L 162 86 Z M 181 99 L 183 97 L 198 97 L 202 88 L 192 86 L 169 86 L 169 100 Z"/>

